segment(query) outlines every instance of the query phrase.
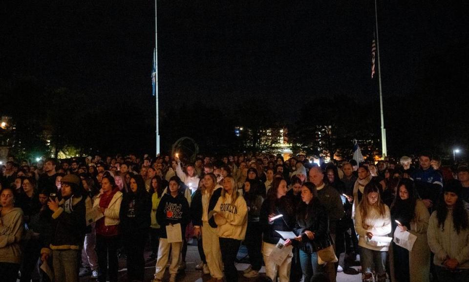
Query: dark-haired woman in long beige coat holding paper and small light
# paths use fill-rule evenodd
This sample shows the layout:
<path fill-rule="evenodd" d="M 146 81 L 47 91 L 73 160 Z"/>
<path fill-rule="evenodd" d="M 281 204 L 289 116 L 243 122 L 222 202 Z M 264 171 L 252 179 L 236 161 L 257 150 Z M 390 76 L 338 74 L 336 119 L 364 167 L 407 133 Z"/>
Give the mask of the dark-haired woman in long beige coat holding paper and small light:
<path fill-rule="evenodd" d="M 412 251 L 393 242 L 391 272 L 399 282 L 429 282 L 430 250 L 426 239 L 430 214 L 410 179 L 402 179 L 391 206 L 393 232 L 408 231 L 417 236 Z M 394 271 L 393 271 L 394 270 Z"/>

